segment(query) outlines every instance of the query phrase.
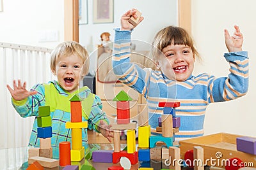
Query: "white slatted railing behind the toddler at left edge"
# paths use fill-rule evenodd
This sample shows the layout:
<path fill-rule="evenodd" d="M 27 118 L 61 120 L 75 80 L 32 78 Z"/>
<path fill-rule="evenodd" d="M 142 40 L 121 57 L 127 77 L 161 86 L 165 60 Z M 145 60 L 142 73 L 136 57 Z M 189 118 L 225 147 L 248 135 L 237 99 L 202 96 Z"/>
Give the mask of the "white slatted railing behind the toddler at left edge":
<path fill-rule="evenodd" d="M 22 118 L 13 109 L 10 92 L 6 85 L 13 87 L 13 80 L 20 79 L 22 82 L 26 81 L 26 89 L 29 90 L 36 83 L 47 83 L 52 80 L 54 77 L 49 64 L 50 53 L 49 48 L 0 42 L 0 150 L 28 146 L 35 119 L 34 117 Z M 19 160 L 17 164 L 9 160 L 10 157 L 23 154 L 15 152 L 16 150 L 4 152 L 4 157 L 1 154 L 0 169 L 15 169 L 13 165 L 19 166 Z"/>

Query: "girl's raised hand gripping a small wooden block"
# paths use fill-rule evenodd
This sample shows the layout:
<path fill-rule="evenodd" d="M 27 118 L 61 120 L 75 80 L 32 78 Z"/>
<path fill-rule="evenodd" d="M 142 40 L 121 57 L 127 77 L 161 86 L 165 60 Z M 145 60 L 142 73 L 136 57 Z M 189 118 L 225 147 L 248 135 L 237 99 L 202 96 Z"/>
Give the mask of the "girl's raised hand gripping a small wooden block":
<path fill-rule="evenodd" d="M 124 15 L 122 15 L 121 30 L 132 30 L 132 29 L 134 29 L 134 27 L 136 27 L 129 22 L 129 19 L 131 17 L 134 17 L 134 18 L 138 17 L 135 13 L 136 13 L 136 9 L 132 9 L 132 10 L 127 11 Z M 143 19 L 144 19 L 143 17 L 140 17 L 138 24 L 140 24 L 140 22 Z"/>

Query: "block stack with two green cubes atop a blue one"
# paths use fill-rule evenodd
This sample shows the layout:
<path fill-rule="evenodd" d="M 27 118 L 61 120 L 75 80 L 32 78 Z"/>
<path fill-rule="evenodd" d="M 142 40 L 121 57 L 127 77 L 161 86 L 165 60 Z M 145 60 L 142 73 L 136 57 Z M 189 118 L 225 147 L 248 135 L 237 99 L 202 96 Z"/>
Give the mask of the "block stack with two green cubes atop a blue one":
<path fill-rule="evenodd" d="M 52 158 L 52 118 L 50 106 L 39 106 L 37 117 L 37 137 L 40 138 L 39 156 Z"/>

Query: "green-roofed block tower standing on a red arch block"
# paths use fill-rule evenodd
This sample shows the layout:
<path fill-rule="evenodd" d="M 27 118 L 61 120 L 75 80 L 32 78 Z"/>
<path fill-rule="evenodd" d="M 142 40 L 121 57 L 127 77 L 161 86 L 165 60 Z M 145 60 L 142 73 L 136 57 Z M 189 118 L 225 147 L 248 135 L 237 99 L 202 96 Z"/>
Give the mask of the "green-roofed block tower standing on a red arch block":
<path fill-rule="evenodd" d="M 130 123 L 130 104 L 132 98 L 124 92 L 120 91 L 113 99 L 116 101 L 117 123 L 112 124 L 111 130 L 114 131 L 114 152 L 113 163 L 120 161 L 120 157 L 127 157 L 131 164 L 138 162 L 138 152 L 136 152 L 135 129 L 136 123 Z M 120 131 L 127 130 L 127 151 L 120 151 Z"/>

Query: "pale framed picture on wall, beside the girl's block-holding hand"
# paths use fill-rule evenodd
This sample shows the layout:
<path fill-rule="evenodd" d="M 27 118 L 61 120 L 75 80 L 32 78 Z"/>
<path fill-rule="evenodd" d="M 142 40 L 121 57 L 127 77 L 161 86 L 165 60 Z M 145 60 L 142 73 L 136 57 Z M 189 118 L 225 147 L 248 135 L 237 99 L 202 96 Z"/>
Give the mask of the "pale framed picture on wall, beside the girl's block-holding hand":
<path fill-rule="evenodd" d="M 93 24 L 113 22 L 113 0 L 93 0 Z"/>

